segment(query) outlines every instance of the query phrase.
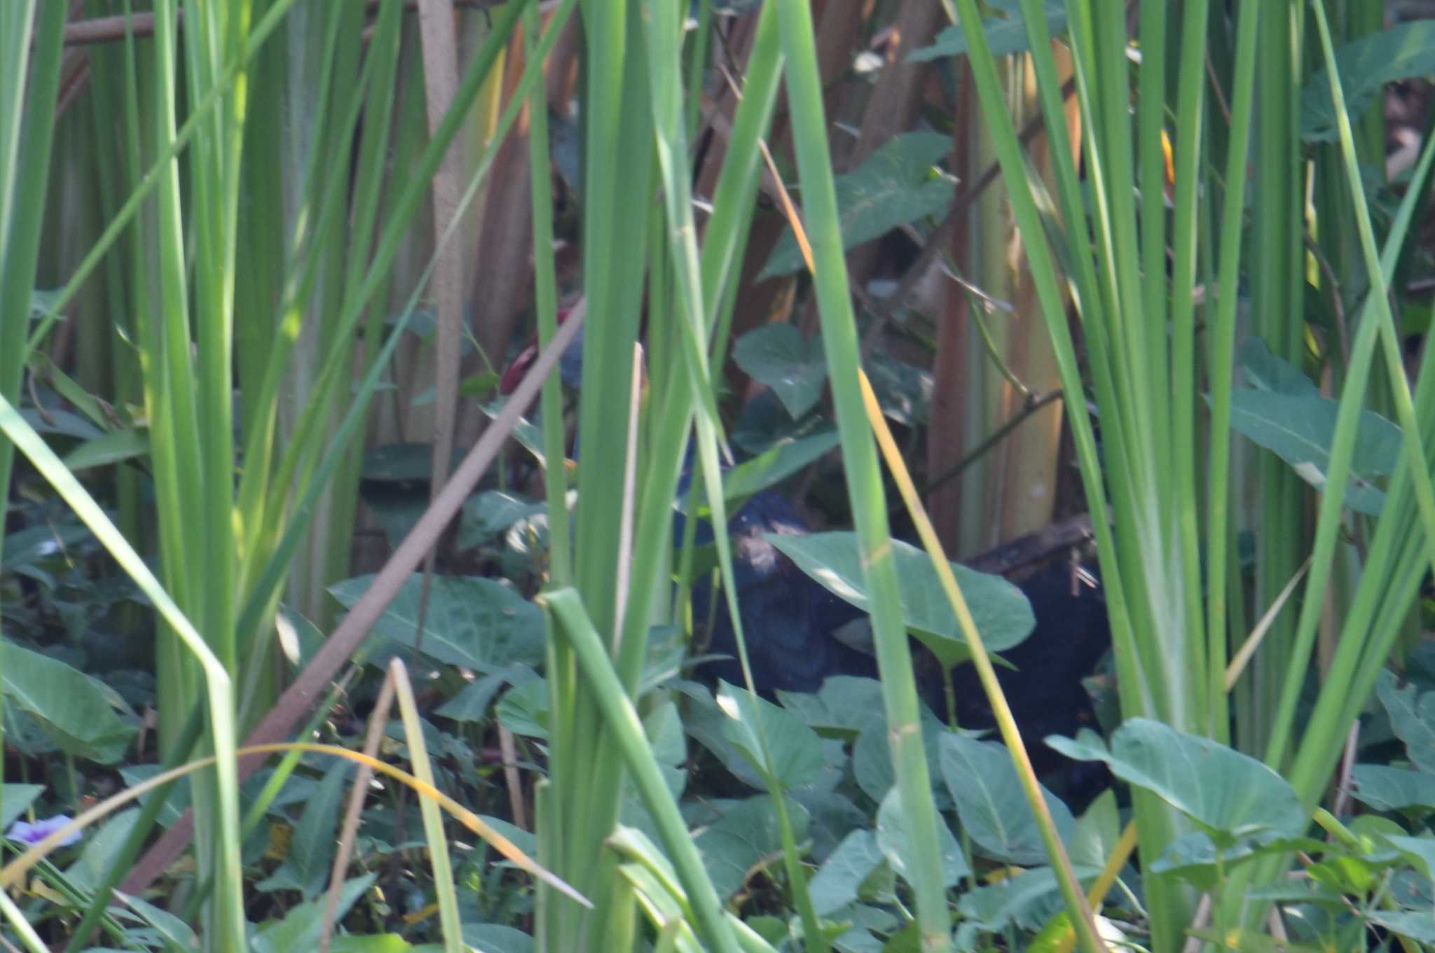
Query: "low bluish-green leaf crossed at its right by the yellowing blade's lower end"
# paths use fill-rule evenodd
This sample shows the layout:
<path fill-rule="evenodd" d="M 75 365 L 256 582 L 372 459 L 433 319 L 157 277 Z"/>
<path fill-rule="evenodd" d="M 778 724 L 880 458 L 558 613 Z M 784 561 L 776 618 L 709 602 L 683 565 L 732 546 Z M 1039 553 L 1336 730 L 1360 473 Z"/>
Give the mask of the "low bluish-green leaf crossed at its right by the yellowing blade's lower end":
<path fill-rule="evenodd" d="M 1040 828 L 1006 747 L 966 738 L 941 737 L 941 777 L 957 804 L 961 830 L 982 853 L 1009 864 L 1030 867 L 1048 861 Z M 1071 840 L 1076 821 L 1055 794 L 1042 788 L 1046 807 L 1062 841 Z"/>

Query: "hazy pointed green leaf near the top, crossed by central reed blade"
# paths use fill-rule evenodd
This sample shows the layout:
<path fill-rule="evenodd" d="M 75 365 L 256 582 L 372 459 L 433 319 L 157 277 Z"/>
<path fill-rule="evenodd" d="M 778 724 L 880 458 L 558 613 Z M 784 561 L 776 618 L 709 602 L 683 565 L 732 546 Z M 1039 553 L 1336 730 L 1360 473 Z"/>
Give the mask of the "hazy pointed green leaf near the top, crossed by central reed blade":
<path fill-rule="evenodd" d="M 934 166 L 950 148 L 947 136 L 908 132 L 893 136 L 857 169 L 837 176 L 834 185 L 842 248 L 855 248 L 894 228 L 946 211 L 956 181 Z M 789 226 L 758 279 L 791 275 L 804 267 Z"/>

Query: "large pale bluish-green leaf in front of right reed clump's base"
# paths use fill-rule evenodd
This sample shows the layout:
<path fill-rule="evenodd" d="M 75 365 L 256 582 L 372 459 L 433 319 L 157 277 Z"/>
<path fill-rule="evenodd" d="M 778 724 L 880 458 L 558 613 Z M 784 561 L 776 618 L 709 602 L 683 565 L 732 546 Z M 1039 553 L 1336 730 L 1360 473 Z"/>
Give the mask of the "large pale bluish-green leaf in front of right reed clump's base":
<path fill-rule="evenodd" d="M 1210 738 L 1147 718 L 1116 728 L 1111 748 L 1092 731 L 1050 737 L 1056 751 L 1105 761 L 1118 778 L 1152 791 L 1227 843 L 1254 834 L 1296 837 L 1307 815 L 1296 791 L 1260 761 Z"/>

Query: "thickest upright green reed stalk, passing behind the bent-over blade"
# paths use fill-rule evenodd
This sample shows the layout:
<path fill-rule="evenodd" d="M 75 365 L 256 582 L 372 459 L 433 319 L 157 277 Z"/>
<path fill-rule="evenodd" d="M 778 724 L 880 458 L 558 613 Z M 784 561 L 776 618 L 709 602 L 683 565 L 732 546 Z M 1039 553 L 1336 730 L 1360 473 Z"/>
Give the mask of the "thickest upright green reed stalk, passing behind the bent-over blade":
<path fill-rule="evenodd" d="M 583 345 L 578 440 L 583 447 L 574 513 L 574 582 L 590 618 L 611 646 L 620 632 L 618 598 L 630 568 L 616 555 L 623 535 L 629 479 L 627 421 L 647 268 L 653 202 L 653 120 L 646 49 L 634 6 L 626 0 L 583 4 L 587 47 L 583 70 L 583 287 L 588 310 Z M 641 469 L 640 469 L 641 473 Z M 659 493 L 657 487 L 644 492 Z M 647 583 L 651 585 L 651 583 Z M 639 605 L 647 605 L 644 599 Z M 552 639 L 551 639 L 552 641 Z M 550 649 L 550 731 L 554 811 L 547 827 L 558 871 L 594 901 L 585 913 L 552 897 L 544 911 L 554 949 L 601 950 L 630 919 L 613 909 L 616 858 L 603 844 L 617 820 L 624 771 L 598 712 L 577 678 L 565 645 Z M 613 937 L 608 930 L 617 930 Z"/>

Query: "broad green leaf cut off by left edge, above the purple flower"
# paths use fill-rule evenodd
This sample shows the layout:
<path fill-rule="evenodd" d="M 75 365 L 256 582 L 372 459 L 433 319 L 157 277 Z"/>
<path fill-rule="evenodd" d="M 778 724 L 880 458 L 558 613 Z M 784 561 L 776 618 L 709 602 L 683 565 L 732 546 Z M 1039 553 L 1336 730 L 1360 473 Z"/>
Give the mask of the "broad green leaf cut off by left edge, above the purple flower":
<path fill-rule="evenodd" d="M 0 688 L 30 712 L 62 751 L 99 764 L 123 757 L 135 728 L 121 721 L 105 695 L 65 662 L 0 641 Z"/>

